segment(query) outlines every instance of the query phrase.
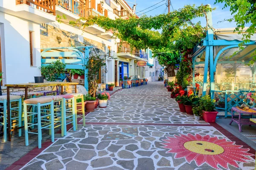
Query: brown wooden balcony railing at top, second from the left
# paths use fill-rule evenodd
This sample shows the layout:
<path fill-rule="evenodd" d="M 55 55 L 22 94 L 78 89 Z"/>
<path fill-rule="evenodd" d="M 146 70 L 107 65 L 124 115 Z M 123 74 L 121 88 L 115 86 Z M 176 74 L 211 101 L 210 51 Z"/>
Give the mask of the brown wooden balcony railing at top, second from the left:
<path fill-rule="evenodd" d="M 81 0 L 56 0 L 56 5 L 61 6 L 79 17 L 86 17 L 86 1 Z"/>

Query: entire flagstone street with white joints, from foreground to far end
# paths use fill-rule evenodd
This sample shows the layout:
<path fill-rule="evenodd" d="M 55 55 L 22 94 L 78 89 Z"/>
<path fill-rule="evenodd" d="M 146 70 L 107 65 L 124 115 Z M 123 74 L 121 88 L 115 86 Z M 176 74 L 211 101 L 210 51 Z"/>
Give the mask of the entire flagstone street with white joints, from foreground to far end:
<path fill-rule="evenodd" d="M 255 156 L 203 120 L 179 112 L 163 82 L 116 91 L 23 170 L 253 170 Z M 235 138 L 232 138 L 235 139 Z"/>

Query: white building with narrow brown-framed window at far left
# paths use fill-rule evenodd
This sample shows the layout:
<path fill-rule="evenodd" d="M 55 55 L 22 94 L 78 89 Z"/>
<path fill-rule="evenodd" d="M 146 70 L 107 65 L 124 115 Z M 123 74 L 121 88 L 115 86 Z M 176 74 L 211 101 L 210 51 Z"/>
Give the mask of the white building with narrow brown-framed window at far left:
<path fill-rule="evenodd" d="M 0 0 L 0 71 L 3 85 L 33 82 L 41 76 L 40 24 L 55 21 L 52 6 L 47 12 L 37 3 Z"/>

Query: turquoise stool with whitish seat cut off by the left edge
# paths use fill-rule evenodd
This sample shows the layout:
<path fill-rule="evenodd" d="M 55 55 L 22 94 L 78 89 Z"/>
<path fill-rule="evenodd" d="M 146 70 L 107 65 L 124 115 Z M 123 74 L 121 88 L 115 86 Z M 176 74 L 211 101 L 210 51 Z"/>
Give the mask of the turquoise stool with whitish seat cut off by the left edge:
<path fill-rule="evenodd" d="M 7 140 L 7 95 L 0 96 L 0 103 L 3 103 L 3 106 L 0 108 L 3 108 L 3 112 L 0 112 L 0 118 L 3 119 L 3 123 L 0 122 L 0 125 L 3 125 L 3 142 L 6 142 Z M 16 105 L 16 104 L 17 105 Z M 12 107 L 14 106 L 14 107 Z M 10 95 L 10 118 L 11 118 L 11 128 L 15 127 L 21 127 L 21 112 L 22 109 L 22 102 L 20 96 L 13 96 Z M 15 114 L 16 113 L 16 114 Z M 21 129 L 19 129 L 19 136 L 21 136 Z"/>

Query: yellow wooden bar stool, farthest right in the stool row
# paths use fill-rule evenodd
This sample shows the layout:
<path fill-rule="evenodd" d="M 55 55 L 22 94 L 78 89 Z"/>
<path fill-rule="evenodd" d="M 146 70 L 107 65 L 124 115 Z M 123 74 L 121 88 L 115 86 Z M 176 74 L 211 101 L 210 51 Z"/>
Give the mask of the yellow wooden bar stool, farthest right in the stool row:
<path fill-rule="evenodd" d="M 84 94 L 72 93 L 71 95 L 73 95 L 75 97 L 75 115 L 76 115 L 76 129 L 77 129 L 77 118 L 82 117 L 83 125 L 85 126 Z M 77 109 L 78 108 L 77 106 L 79 106 L 79 109 Z M 77 116 L 78 113 L 79 113 L 79 116 Z"/>

